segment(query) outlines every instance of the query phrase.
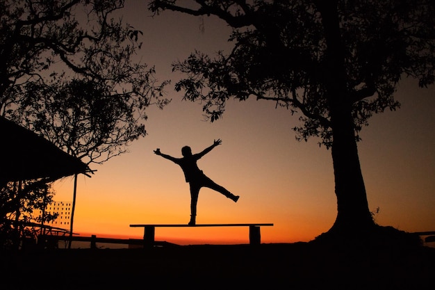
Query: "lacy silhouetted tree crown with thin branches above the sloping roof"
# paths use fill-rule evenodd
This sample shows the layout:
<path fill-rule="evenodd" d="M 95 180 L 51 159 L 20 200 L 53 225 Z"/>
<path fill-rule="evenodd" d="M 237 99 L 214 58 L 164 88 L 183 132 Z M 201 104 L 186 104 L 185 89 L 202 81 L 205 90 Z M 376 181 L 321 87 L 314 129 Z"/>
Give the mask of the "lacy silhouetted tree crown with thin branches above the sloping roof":
<path fill-rule="evenodd" d="M 145 108 L 169 102 L 167 82 L 134 60 L 140 31 L 116 18 L 123 5 L 2 1 L 1 115 L 85 163 L 102 163 L 145 136 Z"/>

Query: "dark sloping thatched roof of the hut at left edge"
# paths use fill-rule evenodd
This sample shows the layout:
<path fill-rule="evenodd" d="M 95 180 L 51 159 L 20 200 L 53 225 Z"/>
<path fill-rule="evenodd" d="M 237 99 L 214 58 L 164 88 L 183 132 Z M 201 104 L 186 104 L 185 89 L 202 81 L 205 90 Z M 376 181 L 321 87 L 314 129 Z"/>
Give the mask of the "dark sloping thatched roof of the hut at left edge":
<path fill-rule="evenodd" d="M 56 180 L 89 172 L 80 159 L 3 117 L 0 117 L 0 136 L 0 184 L 39 178 Z"/>

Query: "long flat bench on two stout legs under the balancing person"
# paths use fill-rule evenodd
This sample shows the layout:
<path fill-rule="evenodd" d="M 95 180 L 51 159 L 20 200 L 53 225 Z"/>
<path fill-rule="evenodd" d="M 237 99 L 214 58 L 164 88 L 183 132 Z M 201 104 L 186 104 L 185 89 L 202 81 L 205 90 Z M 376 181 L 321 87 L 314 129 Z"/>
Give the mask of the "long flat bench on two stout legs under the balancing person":
<path fill-rule="evenodd" d="M 154 246 L 156 227 L 249 227 L 249 244 L 261 243 L 260 227 L 273 226 L 273 223 L 224 223 L 224 224 L 199 224 L 199 225 L 130 225 L 130 227 L 144 228 L 144 246 Z"/>

